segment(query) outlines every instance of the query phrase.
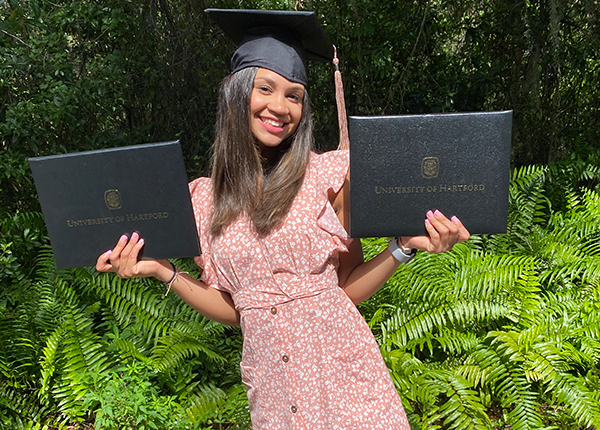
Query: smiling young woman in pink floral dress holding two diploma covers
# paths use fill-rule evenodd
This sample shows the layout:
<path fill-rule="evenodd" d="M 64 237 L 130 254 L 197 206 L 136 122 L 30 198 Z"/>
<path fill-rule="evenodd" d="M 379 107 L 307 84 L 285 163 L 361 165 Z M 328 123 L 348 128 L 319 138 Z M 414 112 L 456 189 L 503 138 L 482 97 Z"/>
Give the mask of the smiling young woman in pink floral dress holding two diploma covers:
<path fill-rule="evenodd" d="M 429 236 L 399 238 L 363 261 L 360 241 L 344 228 L 348 151 L 311 151 L 304 66 L 282 39 L 272 29 L 249 38 L 260 49 L 244 42 L 221 85 L 212 175 L 190 184 L 201 280 L 168 261 L 138 261 L 144 241 L 135 233 L 101 255 L 97 269 L 154 276 L 206 317 L 241 325 L 255 430 L 409 429 L 355 304 L 410 260 L 407 250 L 443 252 L 469 233 L 429 212 Z"/>

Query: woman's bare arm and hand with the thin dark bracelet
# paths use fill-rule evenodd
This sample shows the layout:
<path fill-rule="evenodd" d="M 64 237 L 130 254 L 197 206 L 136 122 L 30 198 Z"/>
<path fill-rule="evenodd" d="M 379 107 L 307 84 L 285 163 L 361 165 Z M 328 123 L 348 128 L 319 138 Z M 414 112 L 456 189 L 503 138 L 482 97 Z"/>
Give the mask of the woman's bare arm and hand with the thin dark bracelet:
<path fill-rule="evenodd" d="M 141 260 L 137 257 L 144 245 L 137 233 L 121 237 L 111 251 L 105 252 L 96 263 L 101 272 L 115 272 L 121 278 L 154 276 L 161 282 L 167 282 L 173 276 L 173 268 L 166 260 Z M 207 318 L 222 324 L 235 326 L 240 323 L 239 313 L 235 310 L 231 296 L 209 287 L 204 282 L 180 273 L 171 284 L 173 290 L 188 305 Z"/>

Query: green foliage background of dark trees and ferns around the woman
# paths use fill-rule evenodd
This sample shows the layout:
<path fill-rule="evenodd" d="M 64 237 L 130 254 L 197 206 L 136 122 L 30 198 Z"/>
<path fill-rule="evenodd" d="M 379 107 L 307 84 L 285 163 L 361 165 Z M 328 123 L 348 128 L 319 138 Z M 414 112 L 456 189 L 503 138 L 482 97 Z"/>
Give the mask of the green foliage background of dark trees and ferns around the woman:
<path fill-rule="evenodd" d="M 234 49 L 207 7 L 316 10 L 349 114 L 514 110 L 508 233 L 419 255 L 361 311 L 415 429 L 598 428 L 598 6 L 0 0 L 0 428 L 249 427 L 239 330 L 150 280 L 56 270 L 26 161 L 178 138 L 206 173 Z M 309 74 L 333 148 L 331 68 Z"/>

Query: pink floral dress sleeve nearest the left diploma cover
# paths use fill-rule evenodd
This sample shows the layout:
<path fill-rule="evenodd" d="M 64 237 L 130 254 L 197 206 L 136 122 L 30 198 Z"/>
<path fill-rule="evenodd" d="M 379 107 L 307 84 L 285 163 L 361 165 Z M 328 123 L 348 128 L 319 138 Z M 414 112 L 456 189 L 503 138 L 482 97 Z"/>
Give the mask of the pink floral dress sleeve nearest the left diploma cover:
<path fill-rule="evenodd" d="M 196 219 L 196 228 L 198 229 L 198 239 L 200 240 L 200 256 L 194 258 L 194 261 L 202 269 L 200 280 L 206 285 L 218 290 L 226 291 L 218 280 L 215 267 L 210 256 L 210 213 L 213 208 L 212 185 L 210 178 L 198 178 L 189 184 L 190 196 L 192 198 L 192 207 L 194 208 L 194 217 Z"/>

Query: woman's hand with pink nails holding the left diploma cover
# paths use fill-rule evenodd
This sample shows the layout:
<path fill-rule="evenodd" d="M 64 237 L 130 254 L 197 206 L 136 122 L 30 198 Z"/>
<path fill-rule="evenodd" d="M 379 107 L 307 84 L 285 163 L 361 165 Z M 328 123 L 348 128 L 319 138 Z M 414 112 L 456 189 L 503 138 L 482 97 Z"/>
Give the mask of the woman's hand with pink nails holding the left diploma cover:
<path fill-rule="evenodd" d="M 137 233 L 134 232 L 131 238 L 124 234 L 113 249 L 98 257 L 96 270 L 99 272 L 114 272 L 120 278 L 154 276 L 159 280 L 162 280 L 162 278 L 168 279 L 173 271 L 168 261 L 138 261 L 138 255 L 143 246 L 144 239 L 140 238 Z"/>

